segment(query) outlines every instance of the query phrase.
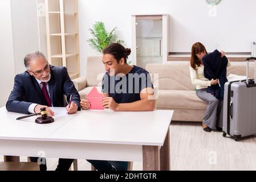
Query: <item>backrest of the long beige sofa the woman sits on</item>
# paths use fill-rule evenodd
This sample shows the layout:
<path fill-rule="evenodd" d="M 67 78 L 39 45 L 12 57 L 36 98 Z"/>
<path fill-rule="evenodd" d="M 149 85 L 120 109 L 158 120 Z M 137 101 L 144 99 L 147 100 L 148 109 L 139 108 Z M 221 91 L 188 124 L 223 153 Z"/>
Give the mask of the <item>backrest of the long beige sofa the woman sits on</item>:
<path fill-rule="evenodd" d="M 160 90 L 194 90 L 189 72 L 188 61 L 170 61 L 168 64 L 147 64 L 146 69 L 151 73 L 152 81 Z M 231 62 L 227 67 L 229 74 L 246 75 L 245 62 Z M 254 63 L 249 65 L 249 77 L 254 78 Z"/>

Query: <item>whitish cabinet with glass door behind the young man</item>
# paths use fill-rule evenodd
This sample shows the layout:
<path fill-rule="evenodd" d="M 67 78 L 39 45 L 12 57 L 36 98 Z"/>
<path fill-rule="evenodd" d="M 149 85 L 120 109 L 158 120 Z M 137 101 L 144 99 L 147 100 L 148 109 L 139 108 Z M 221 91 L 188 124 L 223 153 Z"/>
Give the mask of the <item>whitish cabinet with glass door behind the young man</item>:
<path fill-rule="evenodd" d="M 145 68 L 149 63 L 167 63 L 168 15 L 132 15 L 132 63 Z"/>

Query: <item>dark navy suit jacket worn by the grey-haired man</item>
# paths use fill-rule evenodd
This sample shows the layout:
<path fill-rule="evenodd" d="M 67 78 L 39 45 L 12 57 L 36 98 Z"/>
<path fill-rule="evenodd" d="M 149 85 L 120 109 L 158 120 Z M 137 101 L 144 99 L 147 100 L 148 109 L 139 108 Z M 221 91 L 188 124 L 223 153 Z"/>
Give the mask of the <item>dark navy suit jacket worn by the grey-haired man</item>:
<path fill-rule="evenodd" d="M 72 94 L 72 101 L 78 105 L 80 110 L 80 96 L 65 67 L 54 67 L 50 65 L 51 79 L 48 81 L 49 93 L 54 107 L 64 107 Z M 42 90 L 34 76 L 28 72 L 18 74 L 14 78 L 13 91 L 6 103 L 6 109 L 15 113 L 30 114 L 27 109 L 30 104 L 47 105 L 43 98 Z"/>

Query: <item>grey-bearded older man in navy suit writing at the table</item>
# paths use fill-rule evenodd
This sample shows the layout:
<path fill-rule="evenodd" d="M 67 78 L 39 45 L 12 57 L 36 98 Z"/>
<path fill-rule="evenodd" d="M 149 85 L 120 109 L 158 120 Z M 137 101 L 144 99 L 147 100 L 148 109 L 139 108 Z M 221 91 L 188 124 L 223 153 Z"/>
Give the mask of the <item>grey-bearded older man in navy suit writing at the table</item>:
<path fill-rule="evenodd" d="M 41 107 L 46 107 L 47 114 L 54 116 L 54 107 L 67 106 L 67 100 L 72 94 L 72 102 L 67 106 L 67 113 L 72 114 L 80 110 L 80 96 L 65 67 L 54 67 L 48 64 L 42 52 L 36 51 L 25 56 L 26 72 L 14 78 L 14 87 L 6 103 L 8 111 L 31 114 L 39 113 Z M 38 158 L 31 157 L 32 162 Z M 43 160 L 45 161 L 45 159 Z M 71 159 L 59 159 L 56 171 L 68 170 Z M 46 170 L 46 163 L 40 164 L 40 170 Z"/>

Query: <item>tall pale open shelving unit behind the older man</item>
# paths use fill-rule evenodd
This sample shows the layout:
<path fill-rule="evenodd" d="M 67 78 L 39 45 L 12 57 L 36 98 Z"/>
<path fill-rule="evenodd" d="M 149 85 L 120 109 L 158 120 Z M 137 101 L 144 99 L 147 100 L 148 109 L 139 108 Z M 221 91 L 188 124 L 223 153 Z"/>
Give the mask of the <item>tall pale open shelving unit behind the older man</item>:
<path fill-rule="evenodd" d="M 78 1 L 46 0 L 45 4 L 48 61 L 67 67 L 71 79 L 79 77 Z"/>

